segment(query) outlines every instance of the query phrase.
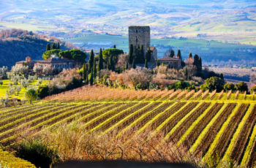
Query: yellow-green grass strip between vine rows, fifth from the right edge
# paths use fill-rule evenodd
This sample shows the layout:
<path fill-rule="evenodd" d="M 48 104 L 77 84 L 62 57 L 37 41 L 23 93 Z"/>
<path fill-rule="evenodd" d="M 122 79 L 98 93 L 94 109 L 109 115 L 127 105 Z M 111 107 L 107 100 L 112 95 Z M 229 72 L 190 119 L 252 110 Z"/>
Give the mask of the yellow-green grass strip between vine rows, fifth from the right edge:
<path fill-rule="evenodd" d="M 190 132 L 192 131 L 192 129 L 195 128 L 195 126 L 197 125 L 197 123 L 199 123 L 202 118 L 204 118 L 207 114 L 208 111 L 211 110 L 212 107 L 214 107 L 214 105 L 216 105 L 215 103 L 212 103 L 204 112 L 202 115 L 200 115 L 197 120 L 195 120 L 191 126 L 189 126 L 189 129 L 187 129 L 187 131 L 181 136 L 180 140 L 178 140 L 177 145 L 180 146 L 182 144 L 182 142 L 184 142 L 184 140 L 187 139 L 187 136 L 190 134 Z"/>

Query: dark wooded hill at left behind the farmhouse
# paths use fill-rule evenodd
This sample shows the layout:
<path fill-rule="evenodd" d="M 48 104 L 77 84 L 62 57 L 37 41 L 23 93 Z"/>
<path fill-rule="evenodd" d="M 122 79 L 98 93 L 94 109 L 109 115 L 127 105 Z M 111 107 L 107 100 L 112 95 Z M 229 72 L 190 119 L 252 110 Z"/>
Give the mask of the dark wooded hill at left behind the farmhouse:
<path fill-rule="evenodd" d="M 61 42 L 56 37 L 47 37 L 42 34 L 34 34 L 32 31 L 20 29 L 0 31 L 0 66 L 15 65 L 15 62 L 25 60 L 30 56 L 32 60 L 42 59 L 48 43 L 60 42 L 61 49 L 67 50 L 73 45 Z"/>

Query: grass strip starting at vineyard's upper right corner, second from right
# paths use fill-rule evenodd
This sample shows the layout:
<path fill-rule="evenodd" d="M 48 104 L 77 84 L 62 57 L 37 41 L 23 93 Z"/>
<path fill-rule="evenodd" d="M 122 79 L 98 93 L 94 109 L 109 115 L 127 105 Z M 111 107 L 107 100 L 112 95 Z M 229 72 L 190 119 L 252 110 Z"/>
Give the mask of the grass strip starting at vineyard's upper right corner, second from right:
<path fill-rule="evenodd" d="M 234 145 L 236 145 L 238 136 L 239 136 L 241 130 L 243 129 L 244 124 L 246 123 L 246 120 L 249 118 L 249 115 L 251 114 L 254 107 L 255 107 L 255 104 L 250 104 L 249 109 L 247 110 L 246 114 L 244 115 L 244 118 L 242 119 L 241 123 L 239 123 L 239 125 L 238 125 L 238 129 L 236 130 L 235 134 L 233 134 L 232 140 L 230 141 L 230 145 L 228 146 L 222 160 L 230 159 L 230 155 L 233 152 Z"/>

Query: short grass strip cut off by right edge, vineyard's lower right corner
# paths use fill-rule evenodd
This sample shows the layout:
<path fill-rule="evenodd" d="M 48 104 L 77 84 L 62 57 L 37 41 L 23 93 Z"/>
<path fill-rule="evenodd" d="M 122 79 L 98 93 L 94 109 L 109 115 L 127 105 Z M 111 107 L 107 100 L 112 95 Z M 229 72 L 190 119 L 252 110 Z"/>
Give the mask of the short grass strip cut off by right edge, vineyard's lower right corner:
<path fill-rule="evenodd" d="M 249 143 L 246 147 L 244 157 L 241 161 L 241 166 L 244 166 L 244 167 L 247 166 L 250 156 L 252 154 L 252 149 L 253 149 L 253 145 L 254 145 L 255 141 L 256 141 L 256 125 L 253 128 L 252 135 L 251 135 L 251 137 L 249 139 Z"/>

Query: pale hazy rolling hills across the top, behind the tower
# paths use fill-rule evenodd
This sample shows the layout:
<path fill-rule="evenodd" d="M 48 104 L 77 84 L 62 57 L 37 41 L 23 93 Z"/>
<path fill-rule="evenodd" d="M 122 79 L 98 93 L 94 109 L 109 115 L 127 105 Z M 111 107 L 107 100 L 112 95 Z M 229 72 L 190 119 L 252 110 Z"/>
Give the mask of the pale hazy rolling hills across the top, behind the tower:
<path fill-rule="evenodd" d="M 189 37 L 256 45 L 255 0 L 1 0 L 0 28 L 56 37 L 127 35 L 149 25 L 153 37 Z"/>

